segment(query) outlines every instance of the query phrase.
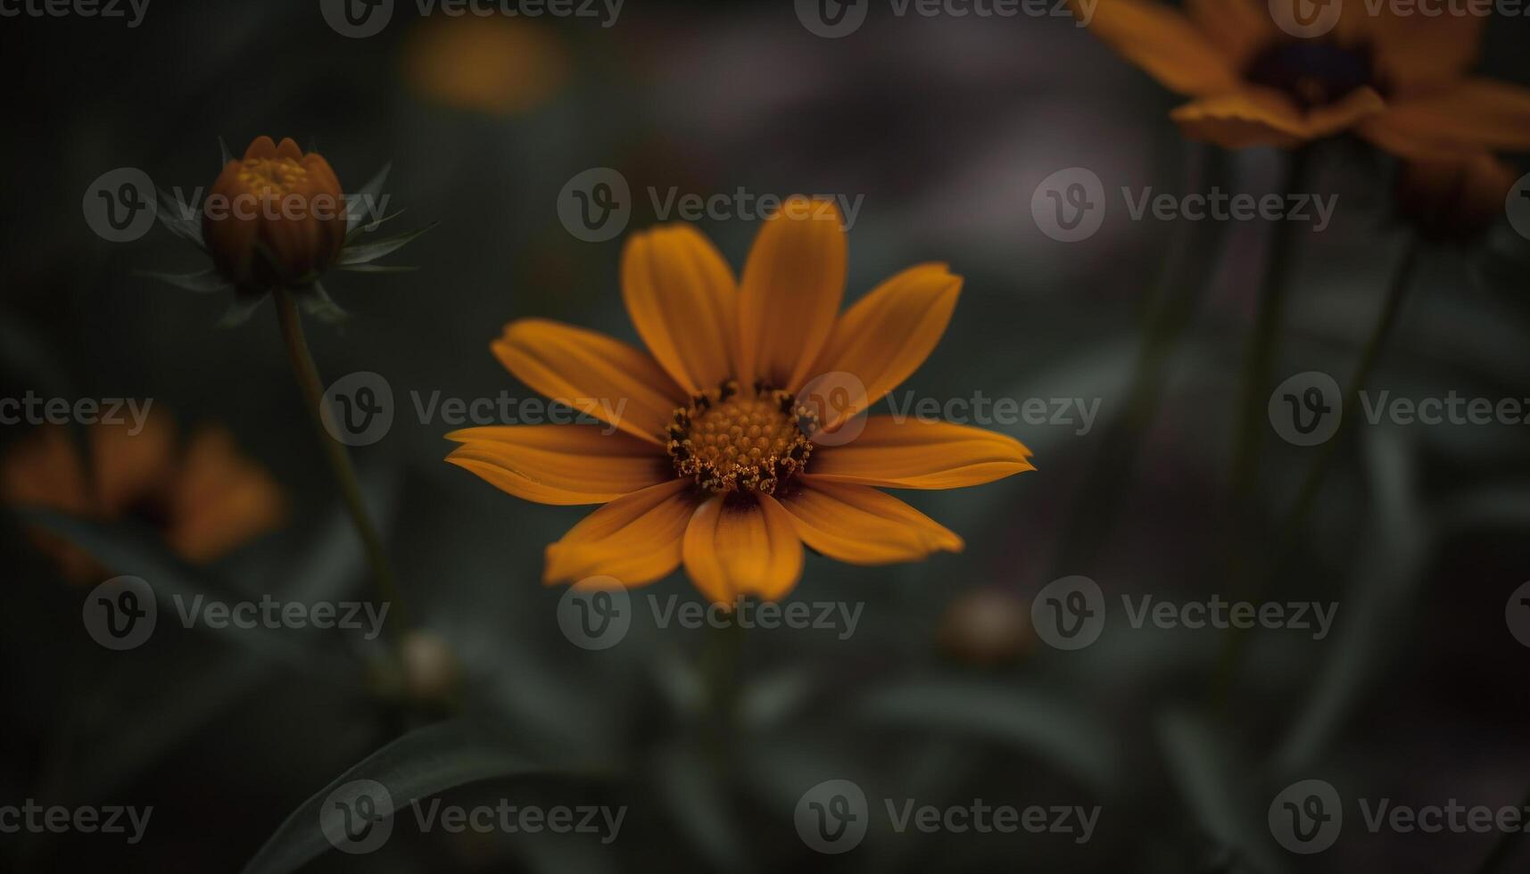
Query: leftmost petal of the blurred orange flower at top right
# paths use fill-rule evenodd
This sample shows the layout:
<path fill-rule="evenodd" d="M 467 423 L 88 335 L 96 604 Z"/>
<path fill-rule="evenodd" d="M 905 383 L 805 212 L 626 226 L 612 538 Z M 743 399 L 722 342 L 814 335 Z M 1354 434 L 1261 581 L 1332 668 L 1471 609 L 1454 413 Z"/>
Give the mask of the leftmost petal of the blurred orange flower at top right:
<path fill-rule="evenodd" d="M 1073 0 L 1073 6 L 1083 20 L 1083 5 Z M 1099 0 L 1089 32 L 1175 93 L 1201 96 L 1238 87 L 1233 55 L 1158 0 Z"/>

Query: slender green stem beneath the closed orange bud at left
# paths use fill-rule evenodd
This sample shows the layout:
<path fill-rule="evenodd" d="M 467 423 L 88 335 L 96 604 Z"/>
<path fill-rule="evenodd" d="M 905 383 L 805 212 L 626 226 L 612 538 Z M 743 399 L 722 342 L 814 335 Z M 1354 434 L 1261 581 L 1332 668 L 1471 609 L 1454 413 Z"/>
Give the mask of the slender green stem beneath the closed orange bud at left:
<path fill-rule="evenodd" d="M 340 487 L 346 511 L 350 514 L 350 522 L 355 525 L 356 534 L 361 537 L 361 545 L 366 548 L 367 565 L 372 569 L 372 580 L 376 585 L 378 597 L 393 605 L 392 614 L 395 621 L 389 623 L 389 628 L 395 637 L 402 637 L 402 632 L 409 629 L 409 611 L 404 608 L 404 598 L 393 576 L 393 565 L 382 548 L 382 537 L 378 536 L 376 525 L 372 523 L 372 516 L 367 513 L 366 501 L 361 496 L 361 485 L 356 481 L 356 470 L 350 465 L 350 455 L 324 427 L 324 383 L 318 377 L 314 355 L 308 351 L 308 340 L 303 337 L 303 317 L 298 315 L 297 302 L 292 298 L 291 291 L 277 288 L 272 291 L 272 297 L 275 297 L 277 303 L 277 320 L 282 323 L 282 338 L 286 341 L 288 360 L 292 363 L 292 373 L 297 377 L 298 389 L 303 392 L 303 406 L 308 407 L 308 416 L 314 422 L 318 444 L 324 450 L 324 461 L 329 462 L 329 471 L 335 476 L 335 485 Z"/>

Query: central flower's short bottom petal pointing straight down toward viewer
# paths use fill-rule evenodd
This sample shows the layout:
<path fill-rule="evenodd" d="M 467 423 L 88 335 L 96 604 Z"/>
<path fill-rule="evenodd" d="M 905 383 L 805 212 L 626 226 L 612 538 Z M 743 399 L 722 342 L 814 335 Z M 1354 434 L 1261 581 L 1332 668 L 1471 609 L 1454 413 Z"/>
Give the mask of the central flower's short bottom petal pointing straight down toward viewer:
<path fill-rule="evenodd" d="M 802 576 L 802 539 L 770 494 L 710 497 L 685 527 L 685 572 L 708 600 L 779 600 Z"/>

